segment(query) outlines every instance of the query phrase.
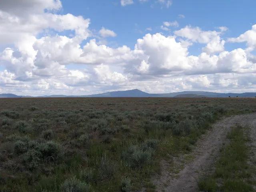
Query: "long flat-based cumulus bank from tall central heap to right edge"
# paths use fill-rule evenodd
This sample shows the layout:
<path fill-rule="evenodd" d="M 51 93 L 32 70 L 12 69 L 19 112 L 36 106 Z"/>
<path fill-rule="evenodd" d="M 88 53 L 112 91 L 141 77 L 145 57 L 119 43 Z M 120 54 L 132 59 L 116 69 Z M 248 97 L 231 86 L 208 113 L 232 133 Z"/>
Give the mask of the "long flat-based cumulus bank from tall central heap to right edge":
<path fill-rule="evenodd" d="M 132 54 L 134 56 L 127 61 L 128 72 L 147 74 L 151 78 L 256 72 L 256 63 L 249 61 L 245 50 L 241 48 L 223 51 L 218 55 L 203 52 L 199 56 L 189 56 L 188 49 L 177 42 L 174 36 L 165 37 L 162 34 L 147 34 L 137 40 Z"/>

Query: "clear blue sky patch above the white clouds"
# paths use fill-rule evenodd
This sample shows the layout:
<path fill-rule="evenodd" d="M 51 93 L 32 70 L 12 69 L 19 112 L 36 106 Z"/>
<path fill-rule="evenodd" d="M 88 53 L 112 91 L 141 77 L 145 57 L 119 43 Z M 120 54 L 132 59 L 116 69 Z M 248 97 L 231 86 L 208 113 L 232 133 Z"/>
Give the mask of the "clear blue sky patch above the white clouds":
<path fill-rule="evenodd" d="M 160 30 L 163 21 L 176 20 L 179 28 L 191 25 L 199 26 L 202 30 L 216 30 L 219 26 L 226 26 L 229 30 L 223 37 L 228 38 L 239 36 L 245 29 L 250 29 L 256 18 L 254 0 L 173 0 L 169 8 L 154 0 L 144 3 L 134 0 L 134 4 L 127 6 L 121 6 L 120 0 L 62 0 L 62 5 L 63 14 L 72 13 L 90 18 L 90 28 L 95 30 L 100 30 L 102 26 L 114 30 L 118 36 L 109 38 L 110 41 L 130 48 L 146 33 L 172 34 L 172 31 Z M 185 18 L 179 18 L 180 14 Z M 152 31 L 147 28 L 152 28 Z M 227 48 L 231 50 L 233 46 L 227 45 Z"/>

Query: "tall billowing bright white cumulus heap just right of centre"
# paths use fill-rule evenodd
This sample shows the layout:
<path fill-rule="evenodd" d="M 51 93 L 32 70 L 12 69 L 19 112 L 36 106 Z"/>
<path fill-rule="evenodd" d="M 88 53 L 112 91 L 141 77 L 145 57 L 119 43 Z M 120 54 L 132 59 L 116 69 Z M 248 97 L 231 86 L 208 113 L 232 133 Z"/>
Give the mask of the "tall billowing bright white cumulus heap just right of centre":
<path fill-rule="evenodd" d="M 159 75 L 189 68 L 186 60 L 188 51 L 176 42 L 173 36 L 165 37 L 159 33 L 146 34 L 142 39 L 137 40 L 133 54 L 136 55 L 133 58 L 138 60 L 133 62 L 134 68 L 138 68 L 139 72 L 148 71 L 148 74 Z M 147 70 L 144 70 L 145 68 Z"/>

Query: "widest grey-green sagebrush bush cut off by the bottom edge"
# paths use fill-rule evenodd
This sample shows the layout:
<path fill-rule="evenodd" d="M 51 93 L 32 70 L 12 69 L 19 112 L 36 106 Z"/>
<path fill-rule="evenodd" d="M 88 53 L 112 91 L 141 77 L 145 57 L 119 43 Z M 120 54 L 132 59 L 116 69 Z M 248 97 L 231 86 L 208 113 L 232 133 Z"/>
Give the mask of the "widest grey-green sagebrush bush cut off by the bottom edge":
<path fill-rule="evenodd" d="M 89 184 L 78 180 L 76 177 L 68 178 L 61 184 L 62 192 L 90 192 L 92 191 Z"/>

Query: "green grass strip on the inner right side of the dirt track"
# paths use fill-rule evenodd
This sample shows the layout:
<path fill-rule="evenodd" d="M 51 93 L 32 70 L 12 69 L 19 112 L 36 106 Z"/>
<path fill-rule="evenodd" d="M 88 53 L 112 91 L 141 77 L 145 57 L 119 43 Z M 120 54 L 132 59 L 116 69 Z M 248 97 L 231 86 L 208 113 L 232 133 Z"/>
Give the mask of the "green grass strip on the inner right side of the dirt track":
<path fill-rule="evenodd" d="M 245 128 L 236 126 L 228 134 L 230 143 L 224 146 L 214 173 L 203 174 L 198 186 L 208 192 L 251 192 L 255 168 L 248 164 L 249 148 Z"/>

